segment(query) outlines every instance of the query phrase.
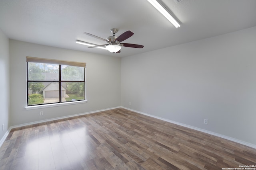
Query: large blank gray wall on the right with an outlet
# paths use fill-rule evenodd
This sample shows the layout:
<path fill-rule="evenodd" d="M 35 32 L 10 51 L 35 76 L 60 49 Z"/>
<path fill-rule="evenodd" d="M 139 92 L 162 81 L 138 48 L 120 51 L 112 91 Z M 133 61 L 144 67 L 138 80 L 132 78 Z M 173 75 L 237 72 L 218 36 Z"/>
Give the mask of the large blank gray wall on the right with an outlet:
<path fill-rule="evenodd" d="M 256 27 L 125 57 L 121 70 L 122 106 L 256 145 Z"/>

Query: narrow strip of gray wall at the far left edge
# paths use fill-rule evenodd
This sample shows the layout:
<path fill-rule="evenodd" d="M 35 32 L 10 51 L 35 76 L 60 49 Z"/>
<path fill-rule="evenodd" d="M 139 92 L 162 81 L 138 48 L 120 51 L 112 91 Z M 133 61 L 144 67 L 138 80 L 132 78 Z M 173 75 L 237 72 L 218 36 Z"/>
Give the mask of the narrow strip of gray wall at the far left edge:
<path fill-rule="evenodd" d="M 0 29 L 0 141 L 7 132 L 10 121 L 10 81 L 9 81 L 9 39 Z M 4 124 L 4 130 L 2 125 Z"/>

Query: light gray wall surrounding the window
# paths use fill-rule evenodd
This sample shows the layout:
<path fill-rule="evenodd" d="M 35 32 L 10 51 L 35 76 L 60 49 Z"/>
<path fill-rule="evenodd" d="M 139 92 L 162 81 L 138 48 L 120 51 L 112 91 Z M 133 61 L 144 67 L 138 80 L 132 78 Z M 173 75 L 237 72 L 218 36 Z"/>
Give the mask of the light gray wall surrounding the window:
<path fill-rule="evenodd" d="M 85 62 L 88 102 L 26 110 L 26 56 Z M 120 106 L 120 65 L 117 57 L 10 40 L 11 126 Z"/>

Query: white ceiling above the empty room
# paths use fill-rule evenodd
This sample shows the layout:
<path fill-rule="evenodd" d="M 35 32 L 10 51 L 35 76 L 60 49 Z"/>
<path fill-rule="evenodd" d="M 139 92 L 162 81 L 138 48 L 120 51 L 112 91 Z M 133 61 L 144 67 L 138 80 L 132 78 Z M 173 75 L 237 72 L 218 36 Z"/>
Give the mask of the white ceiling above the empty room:
<path fill-rule="evenodd" d="M 106 38 L 111 28 L 134 35 L 116 57 L 125 57 L 256 26 L 256 0 L 162 0 L 180 22 L 174 27 L 147 0 L 0 0 L 0 29 L 30 43 L 113 56 L 76 39 L 105 44 L 83 32 Z"/>

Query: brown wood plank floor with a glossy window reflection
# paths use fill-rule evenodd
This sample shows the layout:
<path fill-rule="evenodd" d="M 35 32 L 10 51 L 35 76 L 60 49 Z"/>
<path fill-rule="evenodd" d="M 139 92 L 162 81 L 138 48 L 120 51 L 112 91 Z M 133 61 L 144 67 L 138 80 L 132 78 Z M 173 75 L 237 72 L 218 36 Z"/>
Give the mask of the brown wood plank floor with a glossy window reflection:
<path fill-rule="evenodd" d="M 221 170 L 255 162 L 256 149 L 122 108 L 12 129 L 0 148 L 0 170 Z"/>

